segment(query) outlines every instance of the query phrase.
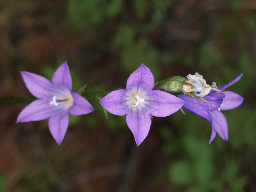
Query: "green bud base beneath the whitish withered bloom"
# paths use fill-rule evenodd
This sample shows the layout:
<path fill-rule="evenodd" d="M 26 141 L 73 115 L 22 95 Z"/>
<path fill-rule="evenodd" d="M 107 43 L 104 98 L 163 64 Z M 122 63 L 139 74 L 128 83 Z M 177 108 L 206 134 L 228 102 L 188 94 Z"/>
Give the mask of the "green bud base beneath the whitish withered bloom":
<path fill-rule="evenodd" d="M 181 76 L 170 77 L 168 79 L 159 81 L 157 84 L 155 84 L 154 89 L 165 91 L 173 95 L 179 95 L 182 94 L 182 85 L 184 80 L 187 79 Z"/>

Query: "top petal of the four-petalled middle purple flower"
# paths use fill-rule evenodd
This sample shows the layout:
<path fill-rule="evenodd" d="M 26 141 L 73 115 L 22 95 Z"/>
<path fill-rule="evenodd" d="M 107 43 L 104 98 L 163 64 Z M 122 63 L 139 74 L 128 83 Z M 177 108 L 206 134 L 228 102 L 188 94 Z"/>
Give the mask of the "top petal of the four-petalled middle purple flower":
<path fill-rule="evenodd" d="M 141 66 L 127 79 L 126 90 L 137 86 L 142 87 L 145 90 L 152 90 L 154 82 L 154 76 L 150 71 L 150 68 L 141 64 Z"/>

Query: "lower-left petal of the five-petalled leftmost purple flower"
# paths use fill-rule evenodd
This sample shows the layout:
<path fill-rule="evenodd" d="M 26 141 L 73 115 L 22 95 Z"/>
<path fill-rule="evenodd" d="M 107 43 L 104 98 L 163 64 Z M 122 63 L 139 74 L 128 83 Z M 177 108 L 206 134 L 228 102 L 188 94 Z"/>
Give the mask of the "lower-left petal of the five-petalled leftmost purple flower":
<path fill-rule="evenodd" d="M 56 115 L 54 105 L 50 105 L 49 101 L 38 99 L 27 105 L 18 115 L 17 122 L 40 121 L 47 119 L 52 115 Z"/>

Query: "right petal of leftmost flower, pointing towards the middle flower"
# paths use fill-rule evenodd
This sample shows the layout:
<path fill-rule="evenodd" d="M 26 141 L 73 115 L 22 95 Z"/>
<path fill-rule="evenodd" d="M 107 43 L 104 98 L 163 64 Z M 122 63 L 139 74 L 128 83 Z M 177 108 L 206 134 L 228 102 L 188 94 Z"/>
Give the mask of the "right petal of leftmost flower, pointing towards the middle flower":
<path fill-rule="evenodd" d="M 74 103 L 68 111 L 70 115 L 85 115 L 94 111 L 88 100 L 84 99 L 81 95 L 75 92 L 71 92 L 71 95 Z"/>

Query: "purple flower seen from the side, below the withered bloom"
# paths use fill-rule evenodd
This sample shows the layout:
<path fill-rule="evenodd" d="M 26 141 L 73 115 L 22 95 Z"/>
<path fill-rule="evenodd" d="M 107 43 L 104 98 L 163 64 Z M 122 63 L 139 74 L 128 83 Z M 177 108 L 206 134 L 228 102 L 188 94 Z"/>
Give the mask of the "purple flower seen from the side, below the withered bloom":
<path fill-rule="evenodd" d="M 218 87 L 220 91 L 224 91 L 226 88 L 236 83 L 241 79 L 243 74 L 240 74 L 234 78 L 231 82 L 225 84 L 224 86 Z M 224 140 L 228 140 L 228 126 L 225 116 L 220 112 L 220 110 L 231 110 L 239 106 L 243 102 L 243 98 L 231 91 L 224 91 L 222 93 L 211 90 L 210 93 L 203 98 L 206 99 L 209 103 L 198 99 L 195 100 L 186 96 L 185 94 L 178 95 L 185 104 L 183 108 L 189 112 L 195 113 L 207 121 L 210 122 L 212 126 L 211 135 L 209 144 L 214 140 L 216 132 Z M 198 104 L 199 102 L 199 104 Z"/>

